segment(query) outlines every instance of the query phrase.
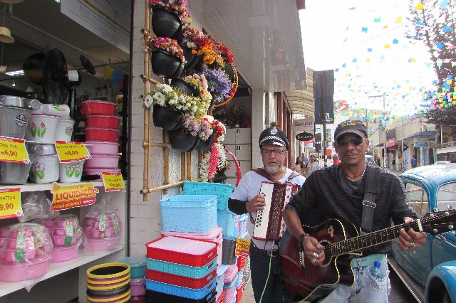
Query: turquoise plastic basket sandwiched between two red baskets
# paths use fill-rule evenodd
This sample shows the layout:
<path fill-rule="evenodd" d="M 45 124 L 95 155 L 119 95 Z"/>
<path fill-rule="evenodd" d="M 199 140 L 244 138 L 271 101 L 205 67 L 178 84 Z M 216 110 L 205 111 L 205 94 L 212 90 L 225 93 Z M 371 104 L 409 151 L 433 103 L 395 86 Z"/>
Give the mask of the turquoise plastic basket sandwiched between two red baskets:
<path fill-rule="evenodd" d="M 168 274 L 180 275 L 192 278 L 202 278 L 209 275 L 214 268 L 217 267 L 217 258 L 208 262 L 206 265 L 201 267 L 182 265 L 172 262 L 165 262 L 146 257 L 146 267 L 148 270 L 157 270 L 159 272 L 167 272 Z"/>

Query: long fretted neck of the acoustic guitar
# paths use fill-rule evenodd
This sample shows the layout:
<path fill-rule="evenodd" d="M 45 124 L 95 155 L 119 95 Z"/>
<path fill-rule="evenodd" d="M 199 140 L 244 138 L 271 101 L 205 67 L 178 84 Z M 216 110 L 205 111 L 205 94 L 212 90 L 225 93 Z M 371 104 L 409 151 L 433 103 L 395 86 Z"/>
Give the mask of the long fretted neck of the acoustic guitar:
<path fill-rule="evenodd" d="M 421 230 L 420 221 L 415 220 L 412 223 L 395 225 L 383 230 L 377 230 L 373 233 L 360 235 L 358 237 L 349 238 L 340 242 L 327 245 L 324 250 L 330 252 L 332 256 L 345 255 L 350 252 L 356 252 L 363 248 L 369 248 L 373 245 L 385 243 L 399 237 L 399 232 L 402 228 L 413 228 L 414 230 Z"/>

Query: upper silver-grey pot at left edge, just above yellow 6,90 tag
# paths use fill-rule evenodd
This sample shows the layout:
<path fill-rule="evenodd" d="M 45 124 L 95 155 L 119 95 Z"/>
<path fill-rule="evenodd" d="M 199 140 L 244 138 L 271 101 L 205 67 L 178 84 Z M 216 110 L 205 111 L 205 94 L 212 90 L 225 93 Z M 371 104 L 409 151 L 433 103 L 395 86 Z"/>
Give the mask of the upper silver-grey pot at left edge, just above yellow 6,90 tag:
<path fill-rule="evenodd" d="M 0 106 L 0 136 L 24 139 L 31 110 Z"/>

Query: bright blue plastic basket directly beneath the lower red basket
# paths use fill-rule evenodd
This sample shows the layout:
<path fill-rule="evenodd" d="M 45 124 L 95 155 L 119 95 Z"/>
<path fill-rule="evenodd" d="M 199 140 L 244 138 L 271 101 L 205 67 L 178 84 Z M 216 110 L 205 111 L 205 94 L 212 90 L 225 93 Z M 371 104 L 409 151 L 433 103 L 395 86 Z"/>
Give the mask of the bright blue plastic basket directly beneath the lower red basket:
<path fill-rule="evenodd" d="M 145 279 L 145 289 L 153 290 L 155 292 L 163 292 L 165 294 L 172 294 L 174 296 L 184 297 L 187 299 L 202 299 L 206 297 L 209 292 L 214 290 L 215 285 L 216 281 L 212 280 L 205 287 L 192 289 Z"/>

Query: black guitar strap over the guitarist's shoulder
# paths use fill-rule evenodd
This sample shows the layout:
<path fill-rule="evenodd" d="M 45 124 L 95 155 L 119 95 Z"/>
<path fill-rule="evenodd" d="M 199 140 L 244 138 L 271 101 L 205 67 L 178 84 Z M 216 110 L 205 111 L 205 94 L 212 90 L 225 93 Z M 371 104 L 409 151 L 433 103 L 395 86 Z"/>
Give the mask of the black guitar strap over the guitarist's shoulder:
<path fill-rule="evenodd" d="M 366 164 L 366 184 L 364 184 L 363 217 L 361 218 L 361 235 L 372 230 L 375 196 L 380 193 L 380 168 Z"/>

